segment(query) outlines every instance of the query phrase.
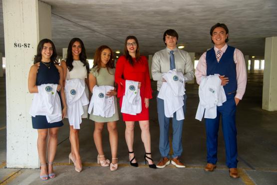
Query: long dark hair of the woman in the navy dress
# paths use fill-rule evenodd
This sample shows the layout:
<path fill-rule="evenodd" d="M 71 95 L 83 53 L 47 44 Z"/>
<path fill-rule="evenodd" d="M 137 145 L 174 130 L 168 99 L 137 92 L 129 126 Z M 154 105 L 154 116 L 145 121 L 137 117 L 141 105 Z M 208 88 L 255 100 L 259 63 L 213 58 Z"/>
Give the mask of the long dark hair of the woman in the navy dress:
<path fill-rule="evenodd" d="M 52 42 L 52 40 L 48 39 L 48 38 L 44 38 L 42 40 L 39 41 L 39 43 L 37 44 L 37 49 L 36 49 L 36 55 L 34 56 L 34 60 L 33 63 L 37 63 L 41 61 L 41 51 L 43 49 L 43 45 L 44 43 L 51 43 L 52 48 L 53 48 L 53 53 L 50 57 L 51 62 L 55 63 L 55 64 L 59 64 L 59 62 L 57 61 L 56 57 L 57 57 L 57 51 L 56 51 L 56 47 L 54 45 L 54 43 Z"/>

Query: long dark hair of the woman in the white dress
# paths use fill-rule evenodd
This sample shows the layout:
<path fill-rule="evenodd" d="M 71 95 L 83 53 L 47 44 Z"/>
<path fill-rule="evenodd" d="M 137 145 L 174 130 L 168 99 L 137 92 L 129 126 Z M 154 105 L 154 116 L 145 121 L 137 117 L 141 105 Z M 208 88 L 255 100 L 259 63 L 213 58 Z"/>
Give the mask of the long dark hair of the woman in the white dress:
<path fill-rule="evenodd" d="M 82 50 L 81 50 L 81 53 L 79 56 L 80 56 L 81 62 L 84 64 L 84 66 L 86 66 L 86 72 L 88 74 L 89 73 L 89 64 L 86 60 L 86 49 L 85 49 L 83 41 L 80 38 L 72 38 L 70 40 L 68 47 L 67 47 L 66 66 L 69 71 L 71 71 L 73 69 L 72 45 L 75 41 L 78 41 L 81 44 Z"/>

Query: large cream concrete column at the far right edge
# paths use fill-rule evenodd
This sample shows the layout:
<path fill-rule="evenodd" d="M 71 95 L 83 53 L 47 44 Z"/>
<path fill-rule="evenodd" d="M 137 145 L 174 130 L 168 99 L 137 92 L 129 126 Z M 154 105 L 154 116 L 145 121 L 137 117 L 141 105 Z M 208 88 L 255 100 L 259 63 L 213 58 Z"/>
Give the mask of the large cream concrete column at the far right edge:
<path fill-rule="evenodd" d="M 277 110 L 277 36 L 267 37 L 263 85 L 263 109 Z"/>

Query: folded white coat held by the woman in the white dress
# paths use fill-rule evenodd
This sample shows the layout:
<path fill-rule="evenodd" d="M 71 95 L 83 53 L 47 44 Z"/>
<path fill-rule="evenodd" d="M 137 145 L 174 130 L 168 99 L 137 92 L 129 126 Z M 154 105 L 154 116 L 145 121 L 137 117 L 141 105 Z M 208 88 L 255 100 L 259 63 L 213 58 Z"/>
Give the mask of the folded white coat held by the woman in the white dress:
<path fill-rule="evenodd" d="M 84 79 L 72 78 L 65 80 L 64 86 L 68 122 L 74 129 L 80 129 L 82 122 L 83 106 L 89 103 L 85 93 Z"/>

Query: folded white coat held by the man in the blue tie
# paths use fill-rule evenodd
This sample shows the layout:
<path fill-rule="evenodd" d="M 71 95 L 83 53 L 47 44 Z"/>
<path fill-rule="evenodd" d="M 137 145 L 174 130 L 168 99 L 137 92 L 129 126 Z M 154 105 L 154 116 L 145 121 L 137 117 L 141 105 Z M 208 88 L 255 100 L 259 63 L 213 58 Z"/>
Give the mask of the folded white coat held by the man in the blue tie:
<path fill-rule="evenodd" d="M 176 69 L 169 70 L 162 74 L 166 80 L 162 83 L 158 98 L 164 100 L 164 109 L 166 117 L 173 117 L 176 112 L 176 119 L 185 119 L 183 105 L 185 94 L 185 77 L 182 72 Z"/>

